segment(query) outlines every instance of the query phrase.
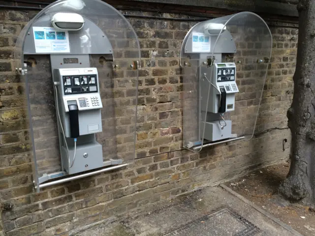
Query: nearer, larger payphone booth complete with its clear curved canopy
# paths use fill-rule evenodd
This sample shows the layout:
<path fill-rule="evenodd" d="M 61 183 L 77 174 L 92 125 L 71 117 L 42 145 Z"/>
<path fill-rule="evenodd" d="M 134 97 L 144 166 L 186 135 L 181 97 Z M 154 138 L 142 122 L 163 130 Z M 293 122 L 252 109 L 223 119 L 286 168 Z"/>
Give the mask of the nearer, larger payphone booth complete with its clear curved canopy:
<path fill-rule="evenodd" d="M 133 162 L 137 100 L 116 79 L 137 96 L 139 45 L 130 22 L 99 0 L 55 1 L 23 28 L 14 60 L 37 191 Z"/>

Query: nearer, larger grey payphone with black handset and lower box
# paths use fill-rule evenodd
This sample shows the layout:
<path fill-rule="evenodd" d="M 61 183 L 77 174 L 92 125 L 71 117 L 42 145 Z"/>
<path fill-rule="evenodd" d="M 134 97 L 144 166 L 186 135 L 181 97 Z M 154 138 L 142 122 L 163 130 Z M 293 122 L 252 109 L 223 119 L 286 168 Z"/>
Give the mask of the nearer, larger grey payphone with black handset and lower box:
<path fill-rule="evenodd" d="M 103 107 L 97 69 L 55 69 L 53 80 L 66 172 L 71 175 L 102 166 L 102 146 L 95 140 L 95 133 L 102 132 Z"/>

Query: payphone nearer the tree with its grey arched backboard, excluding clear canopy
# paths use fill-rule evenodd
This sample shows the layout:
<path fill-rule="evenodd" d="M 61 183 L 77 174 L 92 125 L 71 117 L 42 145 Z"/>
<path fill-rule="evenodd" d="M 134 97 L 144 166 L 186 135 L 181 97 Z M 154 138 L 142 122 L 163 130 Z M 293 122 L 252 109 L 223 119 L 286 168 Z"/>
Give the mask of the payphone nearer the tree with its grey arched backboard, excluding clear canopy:
<path fill-rule="evenodd" d="M 220 34 L 232 38 L 224 24 L 207 23 L 199 30 L 191 33 L 185 46 L 185 53 L 198 59 L 196 73 L 199 78 L 199 110 L 200 134 L 199 139 L 210 142 L 229 139 L 232 136 L 232 122 L 225 119 L 225 113 L 234 111 L 236 84 L 236 65 L 234 62 L 223 62 L 226 54 L 236 51 L 235 42 L 229 40 L 219 45 L 215 55 L 212 52 Z M 185 84 L 184 84 L 185 86 Z M 203 131 L 203 132 L 201 132 Z M 188 147 L 196 143 L 189 143 Z"/>

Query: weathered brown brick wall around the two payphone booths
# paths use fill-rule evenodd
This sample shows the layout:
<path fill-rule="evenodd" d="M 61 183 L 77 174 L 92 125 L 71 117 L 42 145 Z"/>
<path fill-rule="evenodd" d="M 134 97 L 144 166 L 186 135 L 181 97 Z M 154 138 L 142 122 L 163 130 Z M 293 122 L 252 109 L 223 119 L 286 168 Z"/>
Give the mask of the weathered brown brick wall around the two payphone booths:
<path fill-rule="evenodd" d="M 13 63 L 17 35 L 34 14 L 0 10 L 0 198 L 4 208 L 1 212 L 3 234 L 68 235 L 91 223 L 169 201 L 179 194 L 288 157 L 289 146 L 286 145 L 283 151 L 283 139 L 289 140 L 287 129 L 271 130 L 251 141 L 218 145 L 201 153 L 179 150 L 182 148 L 183 117 L 178 56 L 186 32 L 196 22 L 131 18 L 130 23 L 140 40 L 143 65 L 139 73 L 139 124 L 134 163 L 126 169 L 35 193 L 24 111 L 24 85 L 15 75 Z M 162 16 L 183 17 L 166 13 Z M 271 30 L 273 57 L 260 107 L 259 131 L 286 127 L 286 110 L 293 90 L 296 26 L 275 25 L 271 26 Z M 44 63 L 45 58 L 37 61 Z M 126 89 L 118 90 L 124 91 L 121 94 L 126 96 Z M 47 124 L 47 127 L 51 125 Z M 40 135 L 45 134 L 39 134 L 39 138 Z M 58 152 L 56 142 L 50 148 Z M 48 155 L 46 151 L 43 157 Z M 50 166 L 49 162 L 46 164 Z"/>

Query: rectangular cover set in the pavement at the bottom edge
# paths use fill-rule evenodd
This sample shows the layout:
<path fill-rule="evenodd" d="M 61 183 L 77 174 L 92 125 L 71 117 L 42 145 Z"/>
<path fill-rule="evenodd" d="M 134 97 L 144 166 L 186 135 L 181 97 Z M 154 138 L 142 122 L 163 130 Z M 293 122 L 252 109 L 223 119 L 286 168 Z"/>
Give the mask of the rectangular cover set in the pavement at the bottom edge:
<path fill-rule="evenodd" d="M 260 230 L 229 208 L 205 215 L 164 236 L 254 236 Z"/>

